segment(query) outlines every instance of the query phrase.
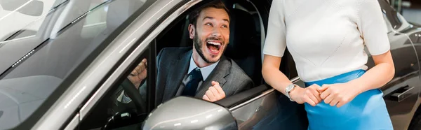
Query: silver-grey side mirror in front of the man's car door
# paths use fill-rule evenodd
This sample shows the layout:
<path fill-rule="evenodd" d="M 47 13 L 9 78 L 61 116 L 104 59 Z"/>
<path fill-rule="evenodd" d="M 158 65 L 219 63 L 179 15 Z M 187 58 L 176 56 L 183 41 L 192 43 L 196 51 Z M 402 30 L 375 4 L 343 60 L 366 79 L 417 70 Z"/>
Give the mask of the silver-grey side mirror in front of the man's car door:
<path fill-rule="evenodd" d="M 142 129 L 237 129 L 227 108 L 215 103 L 178 96 L 158 106 Z"/>

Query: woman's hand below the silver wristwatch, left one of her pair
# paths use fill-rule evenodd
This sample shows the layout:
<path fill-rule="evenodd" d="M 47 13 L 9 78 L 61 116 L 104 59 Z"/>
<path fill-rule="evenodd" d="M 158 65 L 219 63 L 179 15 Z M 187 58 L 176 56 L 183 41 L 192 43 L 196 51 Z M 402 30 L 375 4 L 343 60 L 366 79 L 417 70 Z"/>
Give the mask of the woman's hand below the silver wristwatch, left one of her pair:
<path fill-rule="evenodd" d="M 316 84 L 306 88 L 295 87 L 293 91 L 290 92 L 290 98 L 299 104 L 309 103 L 311 106 L 316 106 L 321 102 L 320 94 L 317 91 L 318 88 L 320 87 Z"/>

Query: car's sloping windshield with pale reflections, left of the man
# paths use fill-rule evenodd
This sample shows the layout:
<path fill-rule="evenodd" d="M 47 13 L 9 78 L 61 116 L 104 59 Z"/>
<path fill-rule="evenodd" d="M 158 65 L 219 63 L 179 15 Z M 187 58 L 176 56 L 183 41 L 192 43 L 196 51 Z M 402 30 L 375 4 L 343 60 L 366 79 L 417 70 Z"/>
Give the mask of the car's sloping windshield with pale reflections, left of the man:
<path fill-rule="evenodd" d="M 48 11 L 36 14 L 22 28 L 35 31 L 31 36 L 0 42 L 0 129 L 11 129 L 26 120 L 76 66 L 106 43 L 106 38 L 115 38 L 110 34 L 116 33 L 117 27 L 141 11 L 142 6 L 150 5 L 145 2 L 152 3 L 152 0 L 47 1 L 43 2 Z M 0 17 L 5 16 L 1 14 Z M 8 17 L 0 20 L 1 27 L 15 24 Z M 1 29 L 5 36 L 16 31 L 13 27 L 7 29 L 7 33 Z"/>

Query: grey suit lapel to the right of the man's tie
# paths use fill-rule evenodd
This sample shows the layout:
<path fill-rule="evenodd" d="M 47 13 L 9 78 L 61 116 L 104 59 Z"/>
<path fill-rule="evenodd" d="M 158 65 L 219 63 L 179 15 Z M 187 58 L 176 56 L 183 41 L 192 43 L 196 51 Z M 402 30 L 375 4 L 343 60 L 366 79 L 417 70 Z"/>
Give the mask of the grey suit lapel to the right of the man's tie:
<path fill-rule="evenodd" d="M 224 88 L 225 77 L 229 74 L 229 68 L 231 67 L 231 63 L 225 59 L 224 56 L 221 57 L 220 62 L 218 65 L 215 66 L 212 73 L 206 78 L 205 81 L 200 86 L 200 89 L 198 92 L 196 92 L 196 98 L 202 98 L 204 94 L 206 94 L 206 91 L 208 91 L 209 87 L 212 86 L 212 81 L 216 81 L 220 83 L 220 86 Z"/>

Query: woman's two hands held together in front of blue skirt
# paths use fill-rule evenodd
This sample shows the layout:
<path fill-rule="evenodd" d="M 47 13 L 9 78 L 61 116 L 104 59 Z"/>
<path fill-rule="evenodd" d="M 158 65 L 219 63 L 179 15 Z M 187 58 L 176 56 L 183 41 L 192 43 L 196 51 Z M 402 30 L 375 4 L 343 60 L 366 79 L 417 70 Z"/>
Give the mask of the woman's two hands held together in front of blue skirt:
<path fill-rule="evenodd" d="M 350 83 L 339 83 L 332 85 L 311 85 L 306 88 L 295 87 L 290 92 L 290 97 L 297 103 L 309 103 L 311 106 L 316 106 L 321 101 L 324 101 L 330 106 L 341 107 L 352 101 L 360 92 L 354 85 Z"/>

